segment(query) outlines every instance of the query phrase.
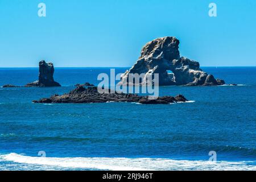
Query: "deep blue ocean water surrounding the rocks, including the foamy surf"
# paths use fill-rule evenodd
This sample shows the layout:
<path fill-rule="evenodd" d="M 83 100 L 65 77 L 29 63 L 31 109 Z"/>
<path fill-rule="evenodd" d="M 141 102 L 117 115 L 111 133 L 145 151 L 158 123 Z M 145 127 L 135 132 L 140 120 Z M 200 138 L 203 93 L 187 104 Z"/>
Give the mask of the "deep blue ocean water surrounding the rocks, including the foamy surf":
<path fill-rule="evenodd" d="M 0 170 L 256 170 L 256 67 L 203 69 L 238 86 L 160 87 L 195 101 L 183 104 L 32 104 L 110 72 L 56 68 L 61 88 L 0 88 Z M 0 85 L 37 78 L 37 68 L 0 68 Z"/>

